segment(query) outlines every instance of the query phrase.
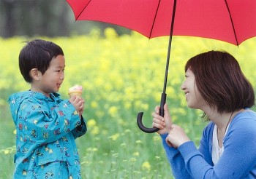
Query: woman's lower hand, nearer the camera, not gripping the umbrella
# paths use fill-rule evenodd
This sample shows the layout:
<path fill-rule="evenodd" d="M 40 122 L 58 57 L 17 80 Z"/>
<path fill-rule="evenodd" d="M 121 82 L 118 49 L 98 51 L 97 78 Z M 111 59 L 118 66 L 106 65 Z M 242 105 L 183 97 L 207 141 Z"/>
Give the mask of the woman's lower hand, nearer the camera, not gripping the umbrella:
<path fill-rule="evenodd" d="M 178 148 L 183 143 L 186 143 L 190 140 L 181 127 L 179 127 L 176 124 L 173 124 L 172 127 L 170 128 L 169 135 L 167 135 L 165 141 L 168 144 L 168 146 Z"/>

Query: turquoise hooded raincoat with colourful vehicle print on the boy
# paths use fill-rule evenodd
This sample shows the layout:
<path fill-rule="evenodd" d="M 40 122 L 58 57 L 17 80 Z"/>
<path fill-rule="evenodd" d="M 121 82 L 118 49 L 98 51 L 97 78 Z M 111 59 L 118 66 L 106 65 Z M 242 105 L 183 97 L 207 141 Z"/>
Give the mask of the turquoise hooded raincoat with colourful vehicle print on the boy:
<path fill-rule="evenodd" d="M 87 129 L 69 100 L 26 91 L 8 101 L 17 131 L 14 178 L 80 178 L 75 138 Z"/>

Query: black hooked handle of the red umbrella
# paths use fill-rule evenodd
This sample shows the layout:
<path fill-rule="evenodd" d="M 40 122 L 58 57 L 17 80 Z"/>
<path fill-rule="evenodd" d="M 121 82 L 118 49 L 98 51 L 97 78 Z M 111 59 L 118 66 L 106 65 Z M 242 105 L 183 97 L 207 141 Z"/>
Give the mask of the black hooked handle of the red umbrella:
<path fill-rule="evenodd" d="M 160 116 L 162 117 L 165 115 L 165 110 L 164 110 L 165 103 L 166 103 L 166 94 L 162 93 L 161 103 L 160 103 Z M 142 116 L 143 116 L 143 112 L 140 112 L 137 115 L 137 124 L 140 130 L 146 133 L 154 133 L 159 130 L 157 127 L 153 127 L 153 128 L 145 127 L 142 123 Z"/>

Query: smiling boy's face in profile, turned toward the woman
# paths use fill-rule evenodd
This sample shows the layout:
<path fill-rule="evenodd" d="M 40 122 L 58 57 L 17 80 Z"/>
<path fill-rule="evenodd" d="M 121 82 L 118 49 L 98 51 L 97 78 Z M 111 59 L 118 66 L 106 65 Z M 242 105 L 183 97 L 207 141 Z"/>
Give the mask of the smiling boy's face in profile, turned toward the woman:
<path fill-rule="evenodd" d="M 37 90 L 44 93 L 48 97 L 50 96 L 51 92 L 58 92 L 62 82 L 64 81 L 64 68 L 65 57 L 63 55 L 58 55 L 55 58 L 53 57 L 49 68 L 39 78 L 39 89 Z"/>

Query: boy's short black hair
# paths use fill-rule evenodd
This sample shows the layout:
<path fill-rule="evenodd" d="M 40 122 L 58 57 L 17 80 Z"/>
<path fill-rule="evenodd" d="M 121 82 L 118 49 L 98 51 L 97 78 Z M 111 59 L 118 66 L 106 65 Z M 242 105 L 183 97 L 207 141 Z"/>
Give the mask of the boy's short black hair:
<path fill-rule="evenodd" d="M 31 83 L 32 78 L 29 72 L 37 68 L 42 74 L 48 69 L 53 57 L 64 55 L 61 47 L 52 41 L 35 39 L 28 41 L 26 46 L 20 50 L 19 67 L 25 81 Z"/>

